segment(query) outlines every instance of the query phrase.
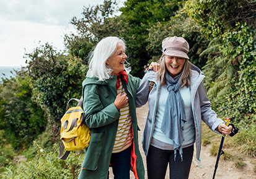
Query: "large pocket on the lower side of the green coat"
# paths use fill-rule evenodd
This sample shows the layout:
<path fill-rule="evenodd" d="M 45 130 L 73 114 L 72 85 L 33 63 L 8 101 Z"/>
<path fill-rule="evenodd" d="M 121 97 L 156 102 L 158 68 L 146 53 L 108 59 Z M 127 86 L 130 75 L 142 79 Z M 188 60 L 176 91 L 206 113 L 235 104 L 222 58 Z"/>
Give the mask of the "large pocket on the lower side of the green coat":
<path fill-rule="evenodd" d="M 100 154 L 102 152 L 102 146 L 104 143 L 104 135 L 104 127 L 92 129 L 92 134 L 90 135 L 90 144 L 86 150 L 84 162 L 82 162 L 83 169 L 96 170 L 98 168 Z"/>

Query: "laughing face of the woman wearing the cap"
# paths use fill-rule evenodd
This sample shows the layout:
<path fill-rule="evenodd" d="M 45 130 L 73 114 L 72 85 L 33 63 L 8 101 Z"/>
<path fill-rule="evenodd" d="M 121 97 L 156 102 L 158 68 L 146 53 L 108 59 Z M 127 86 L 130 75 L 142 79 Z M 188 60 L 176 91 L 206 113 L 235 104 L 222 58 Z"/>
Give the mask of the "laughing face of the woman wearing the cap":
<path fill-rule="evenodd" d="M 170 77 L 175 78 L 184 67 L 185 58 L 174 56 L 165 56 L 164 58 L 166 62 L 166 69 L 168 70 Z"/>

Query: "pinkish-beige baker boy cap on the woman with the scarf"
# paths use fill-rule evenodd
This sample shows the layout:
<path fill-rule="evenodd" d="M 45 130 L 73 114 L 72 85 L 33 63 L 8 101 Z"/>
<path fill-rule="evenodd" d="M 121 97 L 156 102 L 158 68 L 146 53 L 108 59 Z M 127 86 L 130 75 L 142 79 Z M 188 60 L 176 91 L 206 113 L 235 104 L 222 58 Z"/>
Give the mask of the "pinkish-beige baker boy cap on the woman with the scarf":
<path fill-rule="evenodd" d="M 189 59 L 188 50 L 189 44 L 182 37 L 171 36 L 162 41 L 162 52 L 167 56 Z"/>

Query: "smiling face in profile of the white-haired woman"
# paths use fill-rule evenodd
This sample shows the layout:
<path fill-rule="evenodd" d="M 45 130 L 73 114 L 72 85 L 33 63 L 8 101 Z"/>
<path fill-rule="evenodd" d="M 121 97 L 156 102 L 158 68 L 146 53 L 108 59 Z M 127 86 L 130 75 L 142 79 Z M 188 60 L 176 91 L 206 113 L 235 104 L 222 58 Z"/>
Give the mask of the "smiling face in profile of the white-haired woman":
<path fill-rule="evenodd" d="M 113 52 L 110 59 L 107 60 L 107 65 L 113 70 L 113 73 L 119 73 L 125 70 L 125 59 L 127 58 L 125 54 L 125 49 L 121 43 L 117 43 L 117 49 Z"/>

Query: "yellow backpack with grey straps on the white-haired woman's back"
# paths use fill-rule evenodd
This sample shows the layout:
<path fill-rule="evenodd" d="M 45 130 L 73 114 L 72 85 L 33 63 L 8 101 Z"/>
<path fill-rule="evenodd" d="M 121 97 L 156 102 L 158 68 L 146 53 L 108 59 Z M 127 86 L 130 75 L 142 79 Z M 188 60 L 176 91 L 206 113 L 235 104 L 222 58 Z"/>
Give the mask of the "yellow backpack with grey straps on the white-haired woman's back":
<path fill-rule="evenodd" d="M 76 107 L 69 108 L 69 101 L 76 100 Z M 90 129 L 84 123 L 84 110 L 82 110 L 82 98 L 72 98 L 68 101 L 67 111 L 61 118 L 61 144 L 58 158 L 65 160 L 70 151 L 86 149 L 90 143 Z M 63 154 L 64 148 L 66 151 Z M 63 156 L 62 156 L 63 154 Z"/>

